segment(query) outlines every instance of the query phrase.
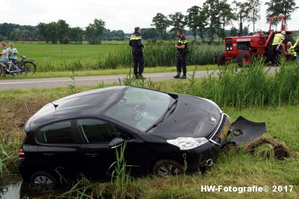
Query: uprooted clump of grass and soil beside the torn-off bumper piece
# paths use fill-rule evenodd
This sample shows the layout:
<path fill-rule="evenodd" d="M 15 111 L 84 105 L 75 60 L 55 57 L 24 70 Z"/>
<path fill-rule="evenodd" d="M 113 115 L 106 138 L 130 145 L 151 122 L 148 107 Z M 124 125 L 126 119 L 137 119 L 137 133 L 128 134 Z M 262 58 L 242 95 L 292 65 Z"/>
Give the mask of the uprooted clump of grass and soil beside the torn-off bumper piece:
<path fill-rule="evenodd" d="M 270 158 L 273 155 L 277 160 L 286 160 L 290 157 L 298 158 L 298 152 L 290 151 L 285 143 L 264 136 L 246 143 L 244 150 L 260 157 Z"/>

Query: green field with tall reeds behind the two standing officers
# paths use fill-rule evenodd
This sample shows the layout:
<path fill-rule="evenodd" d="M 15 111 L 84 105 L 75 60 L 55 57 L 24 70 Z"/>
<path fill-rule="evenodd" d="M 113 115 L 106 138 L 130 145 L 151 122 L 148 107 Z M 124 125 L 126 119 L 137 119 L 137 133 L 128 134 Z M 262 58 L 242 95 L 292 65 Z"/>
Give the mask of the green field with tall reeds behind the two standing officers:
<path fill-rule="evenodd" d="M 146 67 L 175 66 L 175 41 L 144 41 Z M 105 41 L 102 45 L 46 44 L 15 42 L 20 55 L 34 60 L 38 72 L 64 72 L 128 68 L 132 66 L 132 49 L 128 41 Z M 213 65 L 223 51 L 221 45 L 192 44 L 187 56 L 188 65 Z"/>

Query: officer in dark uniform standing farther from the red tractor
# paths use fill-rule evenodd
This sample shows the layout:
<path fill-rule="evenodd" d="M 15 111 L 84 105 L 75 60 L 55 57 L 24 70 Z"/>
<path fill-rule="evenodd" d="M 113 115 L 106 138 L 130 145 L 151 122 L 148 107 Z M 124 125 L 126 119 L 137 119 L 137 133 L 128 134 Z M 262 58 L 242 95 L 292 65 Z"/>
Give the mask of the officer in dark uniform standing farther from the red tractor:
<path fill-rule="evenodd" d="M 144 71 L 145 61 L 143 57 L 143 50 L 146 46 L 141 43 L 140 27 L 135 28 L 135 32 L 130 38 L 129 45 L 132 46 L 132 55 L 134 63 L 134 75 L 136 79 L 143 79 L 142 73 Z M 138 67 L 139 64 L 139 67 Z"/>

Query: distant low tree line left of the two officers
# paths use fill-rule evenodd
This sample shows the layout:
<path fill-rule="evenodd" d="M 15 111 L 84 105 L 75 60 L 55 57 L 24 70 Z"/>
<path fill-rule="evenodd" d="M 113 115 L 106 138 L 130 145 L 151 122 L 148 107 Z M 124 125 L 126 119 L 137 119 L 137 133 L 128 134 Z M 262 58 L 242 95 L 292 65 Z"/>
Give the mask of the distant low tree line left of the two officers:
<path fill-rule="evenodd" d="M 0 24 L 0 40 L 42 40 L 51 43 L 68 44 L 82 43 L 83 40 L 90 44 L 99 44 L 101 40 L 124 40 L 126 34 L 123 30 L 110 30 L 105 28 L 102 19 L 95 19 L 85 29 L 70 27 L 65 20 L 50 23 L 38 23 L 36 26 L 19 25 L 13 23 Z"/>

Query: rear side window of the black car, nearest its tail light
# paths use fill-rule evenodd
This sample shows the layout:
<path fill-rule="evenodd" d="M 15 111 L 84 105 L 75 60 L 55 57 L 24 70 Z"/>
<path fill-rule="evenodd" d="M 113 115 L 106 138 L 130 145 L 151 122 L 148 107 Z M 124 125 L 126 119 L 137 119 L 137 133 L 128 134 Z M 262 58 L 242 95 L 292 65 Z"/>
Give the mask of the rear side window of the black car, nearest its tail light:
<path fill-rule="evenodd" d="M 44 144 L 74 144 L 71 121 L 57 122 L 40 129 Z"/>

